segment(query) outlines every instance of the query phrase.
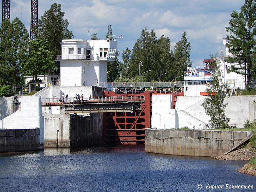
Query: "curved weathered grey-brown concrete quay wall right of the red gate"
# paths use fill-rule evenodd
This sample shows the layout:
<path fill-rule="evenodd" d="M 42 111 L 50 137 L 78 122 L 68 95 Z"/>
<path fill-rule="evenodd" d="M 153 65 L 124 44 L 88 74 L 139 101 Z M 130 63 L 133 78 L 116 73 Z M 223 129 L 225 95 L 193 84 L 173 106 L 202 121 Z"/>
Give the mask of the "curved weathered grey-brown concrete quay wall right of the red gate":
<path fill-rule="evenodd" d="M 249 136 L 245 131 L 145 130 L 145 151 L 168 155 L 216 157 Z"/>

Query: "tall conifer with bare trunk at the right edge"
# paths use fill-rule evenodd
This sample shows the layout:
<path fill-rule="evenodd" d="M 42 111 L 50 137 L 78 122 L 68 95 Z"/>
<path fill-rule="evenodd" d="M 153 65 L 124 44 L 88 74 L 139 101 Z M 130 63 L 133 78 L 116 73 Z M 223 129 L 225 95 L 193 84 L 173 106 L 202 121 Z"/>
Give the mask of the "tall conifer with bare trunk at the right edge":
<path fill-rule="evenodd" d="M 229 56 L 226 60 L 231 63 L 228 72 L 233 71 L 237 74 L 244 75 L 245 87 L 252 75 L 255 77 L 255 60 L 252 55 L 255 54 L 255 35 L 256 35 L 256 2 L 255 0 L 245 0 L 241 7 L 241 12 L 236 11 L 231 13 L 232 19 L 229 21 L 230 27 L 226 31 L 231 35 L 227 36 L 229 39 L 226 46 L 233 56 Z"/>

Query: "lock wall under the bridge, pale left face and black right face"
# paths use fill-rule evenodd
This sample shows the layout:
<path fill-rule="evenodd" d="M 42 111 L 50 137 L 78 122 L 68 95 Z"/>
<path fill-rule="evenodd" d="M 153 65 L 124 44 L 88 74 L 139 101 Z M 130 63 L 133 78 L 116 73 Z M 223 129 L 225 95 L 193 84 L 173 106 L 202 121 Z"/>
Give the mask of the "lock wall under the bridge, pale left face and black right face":
<path fill-rule="evenodd" d="M 102 144 L 102 113 L 44 113 L 44 147 L 84 147 Z"/>

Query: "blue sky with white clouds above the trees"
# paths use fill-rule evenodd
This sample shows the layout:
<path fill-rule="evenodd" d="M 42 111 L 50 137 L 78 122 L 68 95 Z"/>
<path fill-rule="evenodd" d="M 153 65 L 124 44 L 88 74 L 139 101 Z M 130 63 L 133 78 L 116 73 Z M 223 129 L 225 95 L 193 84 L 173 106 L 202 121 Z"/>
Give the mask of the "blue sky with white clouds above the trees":
<path fill-rule="evenodd" d="M 89 39 L 97 33 L 105 39 L 108 25 L 118 39 L 119 60 L 128 47 L 132 50 L 141 31 L 154 29 L 158 38 L 171 40 L 171 50 L 186 32 L 190 42 L 193 67 L 204 65 L 204 59 L 225 50 L 221 44 L 227 36 L 230 14 L 240 12 L 243 0 L 38 0 L 38 19 L 53 3 L 61 4 L 68 29 L 74 39 Z M 30 32 L 30 0 L 10 0 L 11 21 L 18 17 Z M 1 14 L 2 21 L 2 14 Z"/>

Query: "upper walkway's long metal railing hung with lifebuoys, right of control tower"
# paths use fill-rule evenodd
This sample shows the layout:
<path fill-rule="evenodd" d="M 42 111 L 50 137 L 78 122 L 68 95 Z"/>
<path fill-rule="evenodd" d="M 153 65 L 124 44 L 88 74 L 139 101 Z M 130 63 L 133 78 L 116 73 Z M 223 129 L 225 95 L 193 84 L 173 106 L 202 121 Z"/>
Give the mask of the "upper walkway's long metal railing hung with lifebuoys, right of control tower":
<path fill-rule="evenodd" d="M 116 87 L 125 87 L 125 88 L 134 88 L 134 87 L 183 87 L 185 84 L 184 81 L 179 82 L 100 82 L 98 85 L 105 88 L 116 88 Z"/>

